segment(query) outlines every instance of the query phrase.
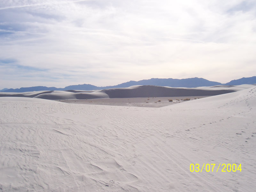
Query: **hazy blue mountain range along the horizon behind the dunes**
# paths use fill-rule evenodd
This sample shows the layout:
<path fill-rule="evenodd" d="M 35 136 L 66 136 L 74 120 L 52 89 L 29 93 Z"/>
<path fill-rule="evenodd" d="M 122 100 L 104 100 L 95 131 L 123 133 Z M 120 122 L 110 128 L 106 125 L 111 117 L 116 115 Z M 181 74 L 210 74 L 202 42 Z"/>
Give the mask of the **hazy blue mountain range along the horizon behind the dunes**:
<path fill-rule="evenodd" d="M 240 84 L 256 84 L 256 76 L 253 77 L 243 77 L 241 79 L 232 80 L 226 84 L 221 84 L 215 81 L 209 81 L 204 78 L 187 78 L 187 79 L 158 79 L 152 78 L 147 80 L 140 81 L 129 81 L 126 83 L 106 86 L 106 87 L 97 87 L 91 84 L 79 84 L 79 85 L 70 85 L 65 88 L 56 88 L 56 87 L 21 87 L 20 89 L 2 89 L 0 92 L 31 92 L 31 91 L 67 91 L 67 90 L 101 90 L 101 89 L 110 89 L 110 88 L 125 88 L 132 85 L 156 85 L 156 86 L 168 86 L 168 87 L 202 87 L 202 86 L 214 86 L 214 85 L 240 85 Z"/>

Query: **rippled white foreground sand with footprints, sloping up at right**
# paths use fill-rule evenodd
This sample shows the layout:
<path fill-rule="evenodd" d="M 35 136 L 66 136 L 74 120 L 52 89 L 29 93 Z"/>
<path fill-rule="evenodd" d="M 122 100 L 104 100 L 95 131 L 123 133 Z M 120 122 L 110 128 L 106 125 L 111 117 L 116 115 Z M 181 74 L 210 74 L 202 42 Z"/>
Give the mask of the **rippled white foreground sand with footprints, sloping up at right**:
<path fill-rule="evenodd" d="M 255 86 L 162 108 L 19 97 L 0 108 L 0 191 L 255 191 Z"/>

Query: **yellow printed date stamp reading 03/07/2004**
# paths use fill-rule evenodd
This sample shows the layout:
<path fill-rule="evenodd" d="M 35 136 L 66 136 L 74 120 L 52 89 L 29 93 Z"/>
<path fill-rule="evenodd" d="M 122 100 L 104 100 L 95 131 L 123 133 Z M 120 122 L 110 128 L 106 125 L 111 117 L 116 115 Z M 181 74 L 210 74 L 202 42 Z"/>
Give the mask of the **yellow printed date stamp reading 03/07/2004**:
<path fill-rule="evenodd" d="M 221 164 L 221 163 L 220 163 Z M 242 171 L 242 165 L 241 164 L 222 164 L 221 166 L 216 166 L 216 168 L 214 169 L 216 164 L 203 164 L 203 166 L 200 167 L 199 164 L 190 164 L 190 171 L 191 172 L 202 172 L 203 170 L 205 170 L 206 172 L 215 172 L 215 170 L 217 169 L 216 172 L 218 172 L 218 170 L 220 169 L 221 172 L 238 172 L 238 171 Z"/>

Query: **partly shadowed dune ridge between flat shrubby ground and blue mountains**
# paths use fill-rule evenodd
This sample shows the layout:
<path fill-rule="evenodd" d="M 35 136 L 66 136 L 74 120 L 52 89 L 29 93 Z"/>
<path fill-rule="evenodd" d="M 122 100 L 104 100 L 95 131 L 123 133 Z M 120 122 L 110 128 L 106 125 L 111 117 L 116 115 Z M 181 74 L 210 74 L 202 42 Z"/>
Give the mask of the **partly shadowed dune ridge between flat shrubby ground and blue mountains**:
<path fill-rule="evenodd" d="M 0 97 L 31 97 L 49 100 L 76 100 L 102 98 L 135 98 L 135 97 L 181 97 L 212 96 L 235 92 L 254 85 L 213 86 L 198 88 L 172 88 L 152 85 L 136 85 L 128 88 L 104 89 L 100 91 L 38 91 L 24 93 L 3 92 Z"/>

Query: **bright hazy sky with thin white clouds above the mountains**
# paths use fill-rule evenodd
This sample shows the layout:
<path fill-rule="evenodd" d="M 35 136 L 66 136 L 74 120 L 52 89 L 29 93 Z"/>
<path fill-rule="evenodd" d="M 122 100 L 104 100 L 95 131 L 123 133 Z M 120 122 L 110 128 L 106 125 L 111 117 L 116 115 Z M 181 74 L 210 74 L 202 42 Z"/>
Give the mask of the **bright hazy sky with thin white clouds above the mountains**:
<path fill-rule="evenodd" d="M 256 76 L 255 0 L 1 0 L 0 89 Z"/>

